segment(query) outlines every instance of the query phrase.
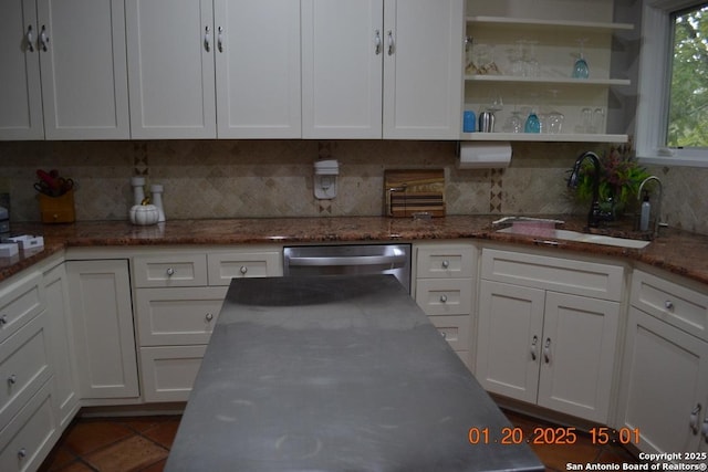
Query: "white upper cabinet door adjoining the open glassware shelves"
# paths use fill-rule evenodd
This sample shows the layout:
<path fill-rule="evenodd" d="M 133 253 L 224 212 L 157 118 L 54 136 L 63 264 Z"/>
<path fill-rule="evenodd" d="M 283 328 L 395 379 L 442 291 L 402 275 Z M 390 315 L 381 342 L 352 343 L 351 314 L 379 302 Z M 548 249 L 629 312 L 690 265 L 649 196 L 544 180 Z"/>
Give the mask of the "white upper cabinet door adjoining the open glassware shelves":
<path fill-rule="evenodd" d="M 386 0 L 384 137 L 458 139 L 464 0 Z"/>

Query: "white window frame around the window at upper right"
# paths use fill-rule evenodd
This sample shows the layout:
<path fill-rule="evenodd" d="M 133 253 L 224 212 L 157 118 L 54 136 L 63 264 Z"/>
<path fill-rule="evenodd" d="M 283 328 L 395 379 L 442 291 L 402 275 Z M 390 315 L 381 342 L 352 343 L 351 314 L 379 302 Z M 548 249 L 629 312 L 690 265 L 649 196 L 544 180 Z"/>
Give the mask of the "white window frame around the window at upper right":
<path fill-rule="evenodd" d="M 671 66 L 671 14 L 700 0 L 643 0 L 637 80 L 636 155 L 644 164 L 708 167 L 708 148 L 667 148 Z"/>

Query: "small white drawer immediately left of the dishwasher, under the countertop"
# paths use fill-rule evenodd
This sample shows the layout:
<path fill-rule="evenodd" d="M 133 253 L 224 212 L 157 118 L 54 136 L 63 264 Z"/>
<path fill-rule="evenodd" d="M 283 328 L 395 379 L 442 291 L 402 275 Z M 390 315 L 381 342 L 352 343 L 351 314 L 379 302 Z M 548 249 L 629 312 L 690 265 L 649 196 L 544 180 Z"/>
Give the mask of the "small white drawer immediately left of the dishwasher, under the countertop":
<path fill-rule="evenodd" d="M 282 252 L 215 252 L 207 256 L 209 285 L 228 285 L 231 279 L 281 276 Z"/>

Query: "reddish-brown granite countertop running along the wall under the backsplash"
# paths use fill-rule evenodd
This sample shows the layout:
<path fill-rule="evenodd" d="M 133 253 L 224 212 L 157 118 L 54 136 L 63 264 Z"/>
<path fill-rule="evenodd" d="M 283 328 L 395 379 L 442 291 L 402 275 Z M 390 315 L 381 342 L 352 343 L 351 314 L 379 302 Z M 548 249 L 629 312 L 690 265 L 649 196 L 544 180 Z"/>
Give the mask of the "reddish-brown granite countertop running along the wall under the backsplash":
<path fill-rule="evenodd" d="M 499 218 L 499 214 L 448 216 L 421 220 L 387 217 L 241 218 L 175 220 L 152 227 L 136 227 L 128 221 L 13 223 L 13 234 L 43 235 L 44 248 L 20 251 L 19 255 L 12 258 L 0 258 L 0 281 L 65 247 L 293 244 L 455 239 L 539 244 L 538 238 L 534 237 L 496 232 L 492 221 Z M 564 228 L 569 230 L 582 231 L 584 225 L 583 218 L 548 218 L 564 220 Z M 624 234 L 622 227 L 600 232 Z M 559 241 L 558 245 L 549 248 L 639 261 L 708 284 L 708 237 L 702 234 L 663 228 L 656 240 L 639 250 L 571 241 Z"/>

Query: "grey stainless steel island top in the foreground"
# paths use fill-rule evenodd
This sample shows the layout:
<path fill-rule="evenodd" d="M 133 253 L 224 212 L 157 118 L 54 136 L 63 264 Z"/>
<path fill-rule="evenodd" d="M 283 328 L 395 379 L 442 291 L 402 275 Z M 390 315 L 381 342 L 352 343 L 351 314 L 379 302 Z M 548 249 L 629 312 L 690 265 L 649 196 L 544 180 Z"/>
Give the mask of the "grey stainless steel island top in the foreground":
<path fill-rule="evenodd" d="M 233 280 L 165 470 L 543 471 L 510 426 L 393 275 Z"/>

